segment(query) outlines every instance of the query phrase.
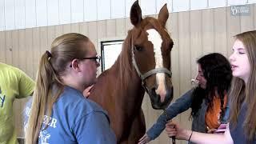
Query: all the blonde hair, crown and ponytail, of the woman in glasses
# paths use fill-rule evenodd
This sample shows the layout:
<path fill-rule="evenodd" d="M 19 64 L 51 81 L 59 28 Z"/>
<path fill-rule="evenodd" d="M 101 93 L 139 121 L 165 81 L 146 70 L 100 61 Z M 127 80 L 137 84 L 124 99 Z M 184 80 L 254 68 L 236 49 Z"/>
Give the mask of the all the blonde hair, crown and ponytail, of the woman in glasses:
<path fill-rule="evenodd" d="M 64 88 L 60 76 L 66 74 L 68 62 L 84 57 L 86 49 L 82 44 L 85 42 L 90 42 L 90 39 L 82 34 L 63 34 L 52 42 L 50 51 L 42 54 L 26 128 L 26 144 L 38 143 L 40 130 L 47 128 L 50 119 L 47 117 L 46 125 L 42 127 L 44 116 L 51 116 L 54 102 Z"/>

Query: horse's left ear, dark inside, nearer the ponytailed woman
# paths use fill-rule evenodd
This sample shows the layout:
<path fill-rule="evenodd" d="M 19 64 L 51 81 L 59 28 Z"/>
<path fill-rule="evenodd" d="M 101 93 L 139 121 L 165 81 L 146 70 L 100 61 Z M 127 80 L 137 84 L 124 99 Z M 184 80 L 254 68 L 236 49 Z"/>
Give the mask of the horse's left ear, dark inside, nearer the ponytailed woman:
<path fill-rule="evenodd" d="M 138 0 L 134 2 L 133 6 L 130 9 L 130 22 L 134 26 L 138 26 L 138 24 L 142 21 L 142 9 L 138 5 Z"/>

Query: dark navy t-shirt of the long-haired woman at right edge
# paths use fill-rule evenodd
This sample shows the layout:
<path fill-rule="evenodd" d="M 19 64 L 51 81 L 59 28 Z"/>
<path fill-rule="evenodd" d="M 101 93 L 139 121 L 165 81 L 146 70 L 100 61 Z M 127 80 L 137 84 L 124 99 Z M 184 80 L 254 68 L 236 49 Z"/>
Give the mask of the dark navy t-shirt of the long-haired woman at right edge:
<path fill-rule="evenodd" d="M 241 110 L 238 114 L 238 123 L 236 126 L 233 126 L 232 123 L 230 122 L 230 134 L 233 139 L 234 144 L 241 144 L 241 143 L 250 143 L 250 144 L 256 144 L 256 139 L 252 142 L 248 142 L 246 140 L 246 134 L 244 133 L 243 129 L 243 122 L 245 122 L 246 118 L 246 104 L 243 103 L 241 106 Z"/>

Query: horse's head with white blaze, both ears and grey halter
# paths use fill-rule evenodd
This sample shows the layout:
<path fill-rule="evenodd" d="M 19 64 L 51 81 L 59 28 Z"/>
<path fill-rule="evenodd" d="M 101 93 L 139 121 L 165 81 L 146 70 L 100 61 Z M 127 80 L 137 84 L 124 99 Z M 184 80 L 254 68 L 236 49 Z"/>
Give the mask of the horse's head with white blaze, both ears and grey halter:
<path fill-rule="evenodd" d="M 165 26 L 169 17 L 166 5 L 162 6 L 158 19 L 142 19 L 138 1 L 130 10 L 132 59 L 154 109 L 165 109 L 173 99 L 170 72 L 170 50 L 174 42 Z"/>

